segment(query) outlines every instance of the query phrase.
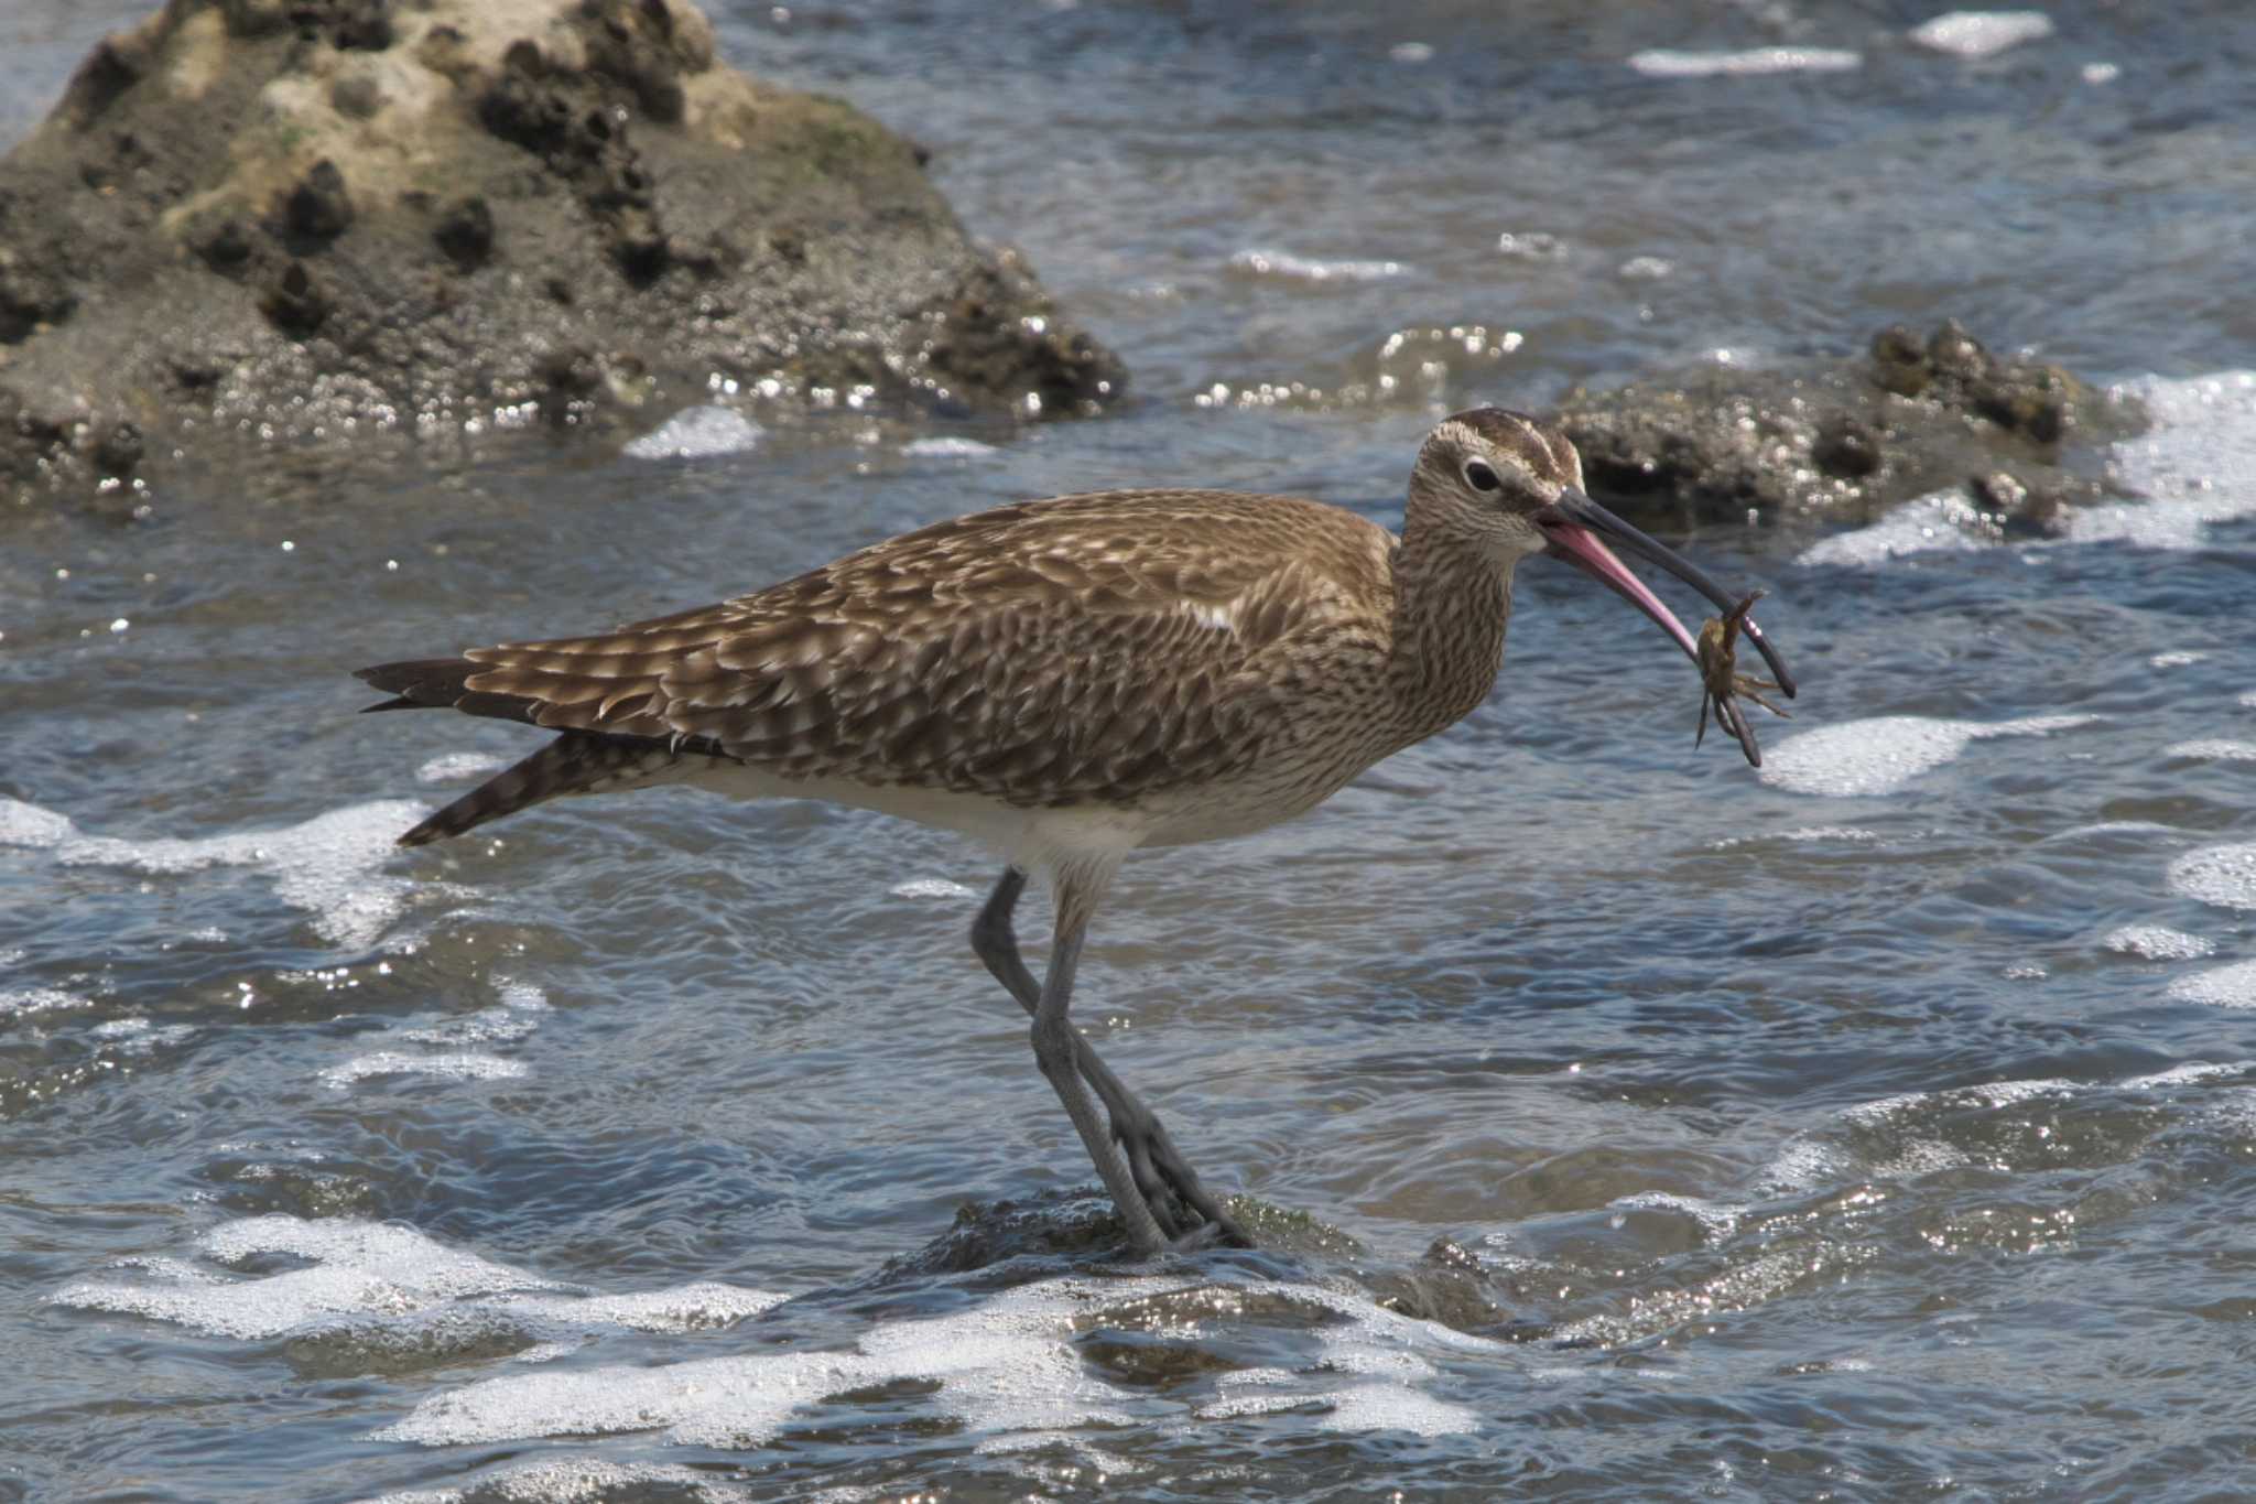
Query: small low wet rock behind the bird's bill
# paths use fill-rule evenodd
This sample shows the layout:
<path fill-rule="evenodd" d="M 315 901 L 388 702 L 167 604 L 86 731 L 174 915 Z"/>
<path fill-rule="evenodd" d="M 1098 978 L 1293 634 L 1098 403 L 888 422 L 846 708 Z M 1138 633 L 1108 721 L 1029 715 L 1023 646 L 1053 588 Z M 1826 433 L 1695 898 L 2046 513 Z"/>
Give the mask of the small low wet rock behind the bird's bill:
<path fill-rule="evenodd" d="M 1965 489 L 1999 537 L 2051 537 L 2062 507 L 2116 494 L 2098 455 L 2145 426 L 2134 401 L 1997 356 L 1956 320 L 1823 365 L 1577 388 L 1561 419 L 1590 494 L 1647 523 L 1863 523 Z"/>

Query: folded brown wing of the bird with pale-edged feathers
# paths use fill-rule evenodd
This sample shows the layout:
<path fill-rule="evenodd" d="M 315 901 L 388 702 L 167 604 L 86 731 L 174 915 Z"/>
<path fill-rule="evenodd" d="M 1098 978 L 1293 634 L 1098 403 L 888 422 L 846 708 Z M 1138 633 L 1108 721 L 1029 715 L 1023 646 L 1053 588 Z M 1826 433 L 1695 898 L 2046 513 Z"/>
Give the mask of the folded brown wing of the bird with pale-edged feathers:
<path fill-rule="evenodd" d="M 717 607 L 465 654 L 562 731 L 790 778 L 1123 800 L 1257 751 L 1263 649 L 1369 609 L 1390 534 L 1318 503 L 1108 492 L 925 528 Z"/>

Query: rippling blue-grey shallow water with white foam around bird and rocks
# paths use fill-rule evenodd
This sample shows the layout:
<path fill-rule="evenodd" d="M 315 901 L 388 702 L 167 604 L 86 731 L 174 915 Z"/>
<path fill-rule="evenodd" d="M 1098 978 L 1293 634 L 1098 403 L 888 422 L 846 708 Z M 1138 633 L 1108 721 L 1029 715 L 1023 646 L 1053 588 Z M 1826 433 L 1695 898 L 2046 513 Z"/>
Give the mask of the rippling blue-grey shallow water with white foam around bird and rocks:
<path fill-rule="evenodd" d="M 717 9 L 1139 397 L 14 528 L 0 1497 L 2242 1493 L 2256 18 L 2044 9 Z M 99 20 L 7 25 L 20 129 Z M 1532 564 L 1464 726 L 1130 864 L 1078 1019 L 1363 1254 L 884 1269 L 1087 1179 L 952 839 L 652 791 L 388 846 L 526 740 L 356 719 L 354 665 L 1121 480 L 1392 521 L 1435 410 L 1942 313 L 2136 383 L 2154 501 L 1692 539 L 1805 683 L 1760 776 Z M 1374 1301 L 1437 1238 L 1484 1319 Z"/>

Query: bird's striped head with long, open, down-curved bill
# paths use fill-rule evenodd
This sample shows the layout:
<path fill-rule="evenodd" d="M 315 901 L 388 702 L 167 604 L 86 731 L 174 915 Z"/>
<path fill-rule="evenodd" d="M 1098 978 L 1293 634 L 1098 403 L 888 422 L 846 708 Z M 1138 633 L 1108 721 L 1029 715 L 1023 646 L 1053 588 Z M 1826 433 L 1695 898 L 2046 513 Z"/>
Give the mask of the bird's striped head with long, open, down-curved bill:
<path fill-rule="evenodd" d="M 1735 604 L 1703 568 L 1590 501 L 1575 444 L 1557 424 L 1525 413 L 1469 408 L 1435 424 L 1410 471 L 1410 514 L 1419 525 L 1473 543 L 1500 568 L 1532 552 L 1575 564 L 1649 616 L 1694 663 L 1692 634 L 1613 550 L 1665 568 L 1726 611 Z M 1744 631 L 1780 688 L 1794 695 L 1794 676 L 1762 629 L 1744 622 Z"/>

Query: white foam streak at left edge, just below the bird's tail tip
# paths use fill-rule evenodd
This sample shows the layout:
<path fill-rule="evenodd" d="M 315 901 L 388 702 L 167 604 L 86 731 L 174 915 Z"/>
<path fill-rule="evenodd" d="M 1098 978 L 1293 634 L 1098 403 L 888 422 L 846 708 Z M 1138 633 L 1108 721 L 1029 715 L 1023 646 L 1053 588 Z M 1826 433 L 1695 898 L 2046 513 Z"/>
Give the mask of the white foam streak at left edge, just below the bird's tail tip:
<path fill-rule="evenodd" d="M 124 841 L 81 834 L 52 809 L 0 800 L 0 841 L 52 850 L 63 866 L 108 866 L 156 877 L 212 866 L 257 866 L 273 877 L 275 897 L 314 915 L 314 929 L 325 940 L 359 949 L 374 945 L 415 893 L 415 884 L 377 868 L 390 859 L 399 832 L 424 814 L 426 807 L 413 800 L 377 800 L 277 830 Z"/>

